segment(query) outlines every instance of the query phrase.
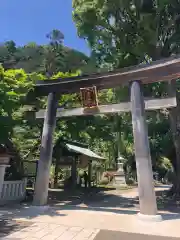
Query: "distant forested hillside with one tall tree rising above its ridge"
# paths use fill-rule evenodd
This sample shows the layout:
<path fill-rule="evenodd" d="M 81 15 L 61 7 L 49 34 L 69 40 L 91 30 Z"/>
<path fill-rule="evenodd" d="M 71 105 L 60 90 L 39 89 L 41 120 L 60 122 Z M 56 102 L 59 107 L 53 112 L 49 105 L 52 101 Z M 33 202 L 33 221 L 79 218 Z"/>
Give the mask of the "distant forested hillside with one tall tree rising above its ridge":
<path fill-rule="evenodd" d="M 64 36 L 58 30 L 47 34 L 49 44 L 37 45 L 35 42 L 25 46 L 7 41 L 0 45 L 0 63 L 4 69 L 24 69 L 27 73 L 46 74 L 48 70 L 57 72 L 73 72 L 81 70 L 84 73 L 95 71 L 95 63 L 84 53 L 70 49 L 63 44 Z"/>

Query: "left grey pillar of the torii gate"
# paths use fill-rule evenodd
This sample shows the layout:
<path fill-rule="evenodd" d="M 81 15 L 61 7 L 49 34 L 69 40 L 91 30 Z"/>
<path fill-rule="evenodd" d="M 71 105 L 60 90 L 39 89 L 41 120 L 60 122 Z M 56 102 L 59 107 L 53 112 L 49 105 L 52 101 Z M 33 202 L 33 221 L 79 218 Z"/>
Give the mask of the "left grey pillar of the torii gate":
<path fill-rule="evenodd" d="M 43 206 L 47 203 L 49 175 L 52 163 L 53 133 L 56 125 L 56 111 L 58 99 L 55 93 L 48 95 L 46 115 L 44 118 L 41 139 L 40 159 L 35 184 L 33 205 Z"/>

